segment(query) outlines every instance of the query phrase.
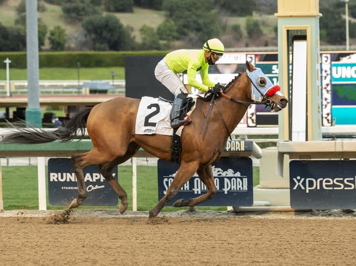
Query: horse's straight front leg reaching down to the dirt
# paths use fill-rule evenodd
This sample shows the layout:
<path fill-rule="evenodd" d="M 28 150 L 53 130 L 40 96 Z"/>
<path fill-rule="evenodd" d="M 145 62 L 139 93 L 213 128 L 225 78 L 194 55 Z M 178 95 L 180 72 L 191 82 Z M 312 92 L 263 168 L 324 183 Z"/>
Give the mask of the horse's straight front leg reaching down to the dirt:
<path fill-rule="evenodd" d="M 183 186 L 183 184 L 185 184 L 190 179 L 190 177 L 195 174 L 196 170 L 198 169 L 198 166 L 198 162 L 180 164 L 177 174 L 175 178 L 173 178 L 173 182 L 167 189 L 166 195 L 157 203 L 157 205 L 152 210 L 150 210 L 150 218 L 155 217 L 160 213 L 166 203 L 178 193 L 179 189 Z"/>

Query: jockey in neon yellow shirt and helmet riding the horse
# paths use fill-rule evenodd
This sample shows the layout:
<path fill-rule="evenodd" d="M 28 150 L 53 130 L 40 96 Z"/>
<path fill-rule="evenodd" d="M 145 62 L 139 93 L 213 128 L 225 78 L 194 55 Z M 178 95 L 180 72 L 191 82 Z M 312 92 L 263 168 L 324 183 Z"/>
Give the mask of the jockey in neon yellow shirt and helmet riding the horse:
<path fill-rule="evenodd" d="M 167 87 L 174 95 L 173 106 L 171 110 L 171 126 L 179 127 L 188 124 L 190 120 L 180 120 L 180 110 L 184 100 L 188 95 L 183 83 L 178 78 L 178 73 L 187 72 L 188 84 L 196 89 L 218 94 L 222 85 L 214 84 L 209 80 L 209 65 L 215 65 L 216 61 L 223 55 L 224 45 L 219 39 L 207 40 L 202 50 L 181 49 L 168 53 L 156 66 L 155 76 L 164 86 Z M 195 77 L 199 71 L 202 84 Z"/>

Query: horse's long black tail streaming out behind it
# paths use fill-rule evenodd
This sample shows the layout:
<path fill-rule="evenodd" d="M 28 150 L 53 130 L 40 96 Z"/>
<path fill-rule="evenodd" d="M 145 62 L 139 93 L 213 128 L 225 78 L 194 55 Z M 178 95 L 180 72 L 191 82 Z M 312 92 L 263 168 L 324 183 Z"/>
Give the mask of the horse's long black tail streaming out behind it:
<path fill-rule="evenodd" d="M 90 111 L 91 107 L 77 112 L 70 120 L 62 123 L 62 125 L 54 131 L 38 127 L 18 127 L 15 123 L 11 125 L 11 128 L 16 130 L 3 134 L 2 138 L 0 137 L 0 143 L 36 144 L 54 140 L 70 141 L 77 136 L 82 139 L 86 133 L 85 129 Z M 23 125 L 23 122 L 21 124 Z"/>

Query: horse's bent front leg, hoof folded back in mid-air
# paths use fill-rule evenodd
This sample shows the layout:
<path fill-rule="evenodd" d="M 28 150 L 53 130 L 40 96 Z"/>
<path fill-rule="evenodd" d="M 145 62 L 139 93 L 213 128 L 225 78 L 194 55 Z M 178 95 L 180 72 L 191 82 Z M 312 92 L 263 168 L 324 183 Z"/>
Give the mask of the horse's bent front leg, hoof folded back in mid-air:
<path fill-rule="evenodd" d="M 215 196 L 216 194 L 216 185 L 214 183 L 214 176 L 213 176 L 213 171 L 211 169 L 211 165 L 204 166 L 204 167 L 199 167 L 199 169 L 196 171 L 200 180 L 203 181 L 203 183 L 206 185 L 206 188 L 208 191 L 196 198 L 189 198 L 189 199 L 178 199 L 173 206 L 174 207 L 183 207 L 183 206 L 195 206 L 207 199 L 211 199 Z"/>

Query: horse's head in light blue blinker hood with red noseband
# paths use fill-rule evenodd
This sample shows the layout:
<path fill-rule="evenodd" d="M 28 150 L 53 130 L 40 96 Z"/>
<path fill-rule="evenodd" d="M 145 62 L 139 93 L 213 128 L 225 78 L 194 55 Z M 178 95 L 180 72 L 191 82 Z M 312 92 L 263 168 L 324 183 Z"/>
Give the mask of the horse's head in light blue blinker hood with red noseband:
<path fill-rule="evenodd" d="M 251 99 L 254 102 L 264 102 L 271 111 L 280 111 L 287 106 L 287 98 L 280 92 L 278 85 L 273 85 L 260 68 L 255 68 L 246 61 L 246 73 L 251 81 Z"/>

